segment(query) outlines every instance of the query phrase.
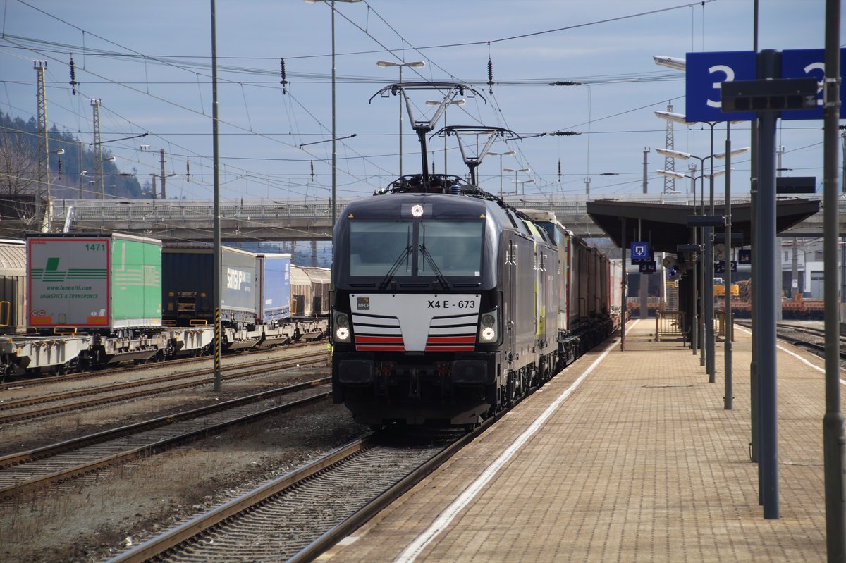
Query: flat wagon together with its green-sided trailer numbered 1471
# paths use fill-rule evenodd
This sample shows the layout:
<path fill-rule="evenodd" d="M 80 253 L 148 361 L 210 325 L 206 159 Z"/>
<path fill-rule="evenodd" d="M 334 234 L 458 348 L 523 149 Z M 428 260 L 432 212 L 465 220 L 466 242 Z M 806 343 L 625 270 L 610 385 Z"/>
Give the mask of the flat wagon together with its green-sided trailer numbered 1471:
<path fill-rule="evenodd" d="M 12 343 L 12 351 L 3 352 L 5 369 L 9 363 L 86 369 L 167 353 L 161 241 L 119 233 L 31 234 L 26 265 L 28 325 L 49 337 Z"/>

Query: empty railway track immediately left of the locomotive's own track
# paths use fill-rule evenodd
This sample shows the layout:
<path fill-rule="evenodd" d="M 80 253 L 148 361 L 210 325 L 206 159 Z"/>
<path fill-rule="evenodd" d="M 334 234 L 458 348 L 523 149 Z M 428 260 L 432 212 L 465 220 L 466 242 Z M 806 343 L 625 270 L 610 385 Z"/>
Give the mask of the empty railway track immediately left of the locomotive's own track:
<path fill-rule="evenodd" d="M 102 471 L 189 440 L 222 431 L 234 424 L 285 413 L 325 400 L 330 378 L 263 391 L 239 399 L 153 418 L 95 435 L 82 436 L 30 451 L 0 457 L 0 500 L 63 484 L 77 486 Z M 318 391 L 315 391 L 316 388 Z M 322 389 L 321 389 L 322 388 Z M 287 402 L 284 398 L 291 397 Z"/>

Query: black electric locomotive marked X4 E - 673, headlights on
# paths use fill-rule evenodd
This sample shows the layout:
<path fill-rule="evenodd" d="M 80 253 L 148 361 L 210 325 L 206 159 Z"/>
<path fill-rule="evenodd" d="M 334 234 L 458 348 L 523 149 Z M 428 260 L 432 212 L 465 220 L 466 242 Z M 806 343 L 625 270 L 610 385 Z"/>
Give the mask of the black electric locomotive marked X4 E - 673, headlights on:
<path fill-rule="evenodd" d="M 555 243 L 457 177 L 427 180 L 335 226 L 332 396 L 362 424 L 478 424 L 560 367 Z"/>

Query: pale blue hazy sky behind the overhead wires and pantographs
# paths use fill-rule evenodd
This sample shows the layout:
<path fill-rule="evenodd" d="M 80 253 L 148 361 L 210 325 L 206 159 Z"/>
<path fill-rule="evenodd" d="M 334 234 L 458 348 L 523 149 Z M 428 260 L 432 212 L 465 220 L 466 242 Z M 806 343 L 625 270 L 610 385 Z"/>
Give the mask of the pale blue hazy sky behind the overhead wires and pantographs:
<path fill-rule="evenodd" d="M 33 60 L 47 60 L 51 127 L 90 143 L 91 98 L 100 99 L 102 146 L 121 171 L 135 170 L 146 182 L 159 172 L 163 149 L 167 172 L 176 174 L 168 178 L 168 197 L 211 200 L 210 2 L 0 4 L 0 111 L 36 117 Z M 485 156 L 477 171 L 482 189 L 519 186 L 527 199 L 585 197 L 590 178 L 591 199 L 600 199 L 642 193 L 645 150 L 648 192 L 665 189 L 655 172 L 666 167 L 665 157 L 655 149 L 665 146 L 666 122 L 655 112 L 666 111 L 668 103 L 685 112 L 685 80 L 684 72 L 657 66 L 653 56 L 753 47 L 753 0 L 338 0 L 335 7 L 339 200 L 370 195 L 398 177 L 400 127 L 403 173 L 420 172 L 420 144 L 408 114 L 400 123 L 398 97 L 377 94 L 398 82 L 398 68 L 380 68 L 376 61 L 426 63 L 404 68 L 404 82 L 472 87 L 475 96 L 459 96 L 464 105 L 448 107 L 448 125 L 506 128 L 519 137 L 497 139 L 489 148 L 516 155 Z M 330 3 L 217 0 L 216 12 L 222 199 L 328 202 Z M 824 19 L 824 0 L 760 0 L 758 45 L 822 48 Z M 280 84 L 280 59 L 286 85 Z M 579 84 L 550 85 L 559 81 Z M 418 120 L 431 117 L 427 100 L 442 99 L 438 91 L 409 96 Z M 443 124 L 442 118 L 435 130 Z M 821 127 L 821 121 L 779 123 L 785 174 L 816 176 L 821 186 Z M 551 134 L 556 131 L 577 134 Z M 434 161 L 435 171 L 443 172 L 444 139 L 429 137 L 429 166 Z M 725 137 L 725 125 L 717 124 L 713 153 L 724 150 Z M 460 139 L 470 156 L 478 156 L 486 140 Z M 748 147 L 748 123 L 733 125 L 731 139 L 735 149 Z M 707 125 L 675 125 L 673 141 L 675 150 L 712 154 Z M 447 172 L 464 177 L 454 135 L 447 146 Z M 501 172 L 500 161 L 502 168 L 529 172 Z M 675 170 L 689 174 L 694 161 L 675 161 Z M 748 192 L 748 154 L 736 156 L 732 166 L 733 194 Z M 722 194 L 722 178 L 715 188 Z M 689 180 L 679 180 L 675 189 L 688 190 Z"/>

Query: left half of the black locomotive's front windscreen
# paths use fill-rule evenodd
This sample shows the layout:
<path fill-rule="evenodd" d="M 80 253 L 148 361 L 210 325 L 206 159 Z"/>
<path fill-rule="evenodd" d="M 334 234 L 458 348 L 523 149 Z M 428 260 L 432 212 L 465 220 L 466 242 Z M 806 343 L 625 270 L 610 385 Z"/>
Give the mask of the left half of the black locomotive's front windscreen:
<path fill-rule="evenodd" d="M 385 276 L 396 265 L 393 276 L 410 276 L 412 253 L 406 249 L 413 243 L 412 235 L 407 222 L 350 222 L 349 275 Z"/>

